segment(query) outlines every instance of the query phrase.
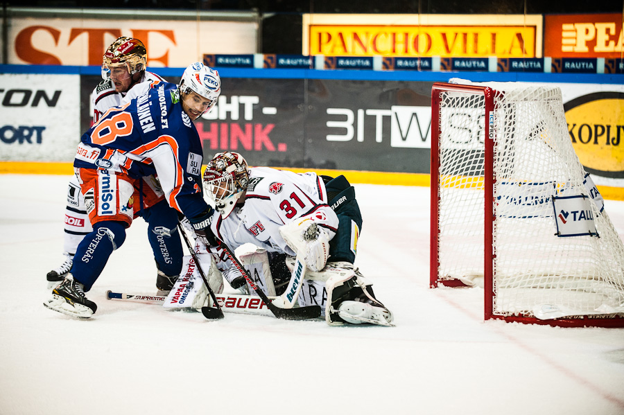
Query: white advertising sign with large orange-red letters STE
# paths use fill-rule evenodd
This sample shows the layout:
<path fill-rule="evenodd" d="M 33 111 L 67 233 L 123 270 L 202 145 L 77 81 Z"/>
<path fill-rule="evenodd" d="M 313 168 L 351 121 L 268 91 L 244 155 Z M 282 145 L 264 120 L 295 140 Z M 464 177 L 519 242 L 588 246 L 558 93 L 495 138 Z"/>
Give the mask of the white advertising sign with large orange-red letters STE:
<path fill-rule="evenodd" d="M 140 13 L 103 10 L 102 17 L 28 17 L 18 13 L 8 24 L 9 64 L 101 65 L 102 55 L 117 37 L 140 39 L 148 52 L 148 67 L 187 67 L 204 53 L 257 52 L 257 21 L 186 19 L 175 12 Z M 61 14 L 59 12 L 58 14 Z M 113 18 L 114 17 L 114 18 Z M 216 41 L 215 39 L 218 39 Z"/>

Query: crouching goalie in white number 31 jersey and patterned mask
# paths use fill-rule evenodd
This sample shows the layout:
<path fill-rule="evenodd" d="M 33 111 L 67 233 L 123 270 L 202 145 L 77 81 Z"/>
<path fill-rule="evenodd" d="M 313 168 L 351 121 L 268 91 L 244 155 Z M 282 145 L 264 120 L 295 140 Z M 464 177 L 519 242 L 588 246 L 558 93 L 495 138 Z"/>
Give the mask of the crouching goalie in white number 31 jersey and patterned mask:
<path fill-rule="evenodd" d="M 214 236 L 232 250 L 245 243 L 266 250 L 270 276 L 263 279 L 268 277 L 277 295 L 291 279 L 299 253 L 308 269 L 300 306 L 322 306 L 328 324 L 392 323 L 392 313 L 353 265 L 362 216 L 344 176 L 250 168 L 241 154 L 223 152 L 209 161 L 203 181 L 218 212 L 211 224 Z M 233 288 L 242 286 L 240 272 L 214 247 L 216 239 L 207 242 L 225 279 Z"/>

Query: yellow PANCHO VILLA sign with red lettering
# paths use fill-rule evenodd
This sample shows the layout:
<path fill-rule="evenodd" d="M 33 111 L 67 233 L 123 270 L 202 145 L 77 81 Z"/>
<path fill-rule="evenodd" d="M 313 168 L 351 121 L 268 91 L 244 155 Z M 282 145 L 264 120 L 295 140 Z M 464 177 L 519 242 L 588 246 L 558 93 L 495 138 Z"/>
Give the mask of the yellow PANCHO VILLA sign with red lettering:
<path fill-rule="evenodd" d="M 304 15 L 302 53 L 541 58 L 541 15 Z"/>

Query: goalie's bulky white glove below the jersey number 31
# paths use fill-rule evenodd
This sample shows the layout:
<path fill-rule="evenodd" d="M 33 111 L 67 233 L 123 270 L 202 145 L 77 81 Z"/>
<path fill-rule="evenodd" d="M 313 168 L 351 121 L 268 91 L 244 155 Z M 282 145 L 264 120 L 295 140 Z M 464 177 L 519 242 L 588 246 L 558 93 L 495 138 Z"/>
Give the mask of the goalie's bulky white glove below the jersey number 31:
<path fill-rule="evenodd" d="M 311 218 L 286 224 L 279 228 L 279 233 L 295 253 L 304 254 L 310 270 L 319 272 L 325 267 L 329 258 L 329 236 Z"/>

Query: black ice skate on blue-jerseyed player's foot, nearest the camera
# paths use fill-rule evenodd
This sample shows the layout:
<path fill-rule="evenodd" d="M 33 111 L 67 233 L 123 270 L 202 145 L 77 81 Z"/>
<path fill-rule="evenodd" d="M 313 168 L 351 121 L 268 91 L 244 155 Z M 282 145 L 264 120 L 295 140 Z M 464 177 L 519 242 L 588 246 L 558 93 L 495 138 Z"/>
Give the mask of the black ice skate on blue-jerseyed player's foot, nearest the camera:
<path fill-rule="evenodd" d="M 88 319 L 98 308 L 85 297 L 83 284 L 73 281 L 71 274 L 52 290 L 52 297 L 44 301 L 44 306 L 78 319 Z"/>

